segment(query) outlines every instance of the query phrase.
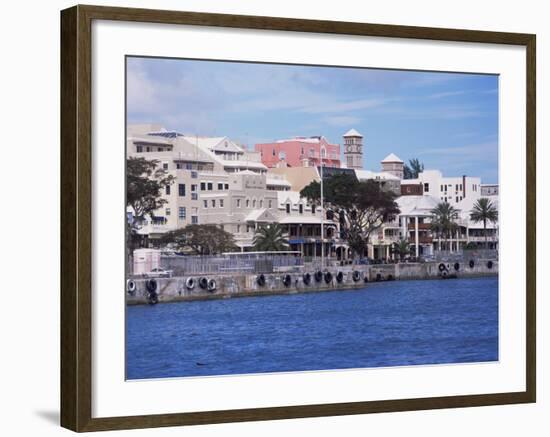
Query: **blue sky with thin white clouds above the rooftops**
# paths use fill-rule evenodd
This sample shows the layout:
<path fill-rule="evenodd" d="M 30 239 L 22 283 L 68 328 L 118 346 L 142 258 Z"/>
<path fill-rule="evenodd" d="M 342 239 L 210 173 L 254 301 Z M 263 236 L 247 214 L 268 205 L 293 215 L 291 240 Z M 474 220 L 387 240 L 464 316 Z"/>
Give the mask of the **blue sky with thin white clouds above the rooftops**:
<path fill-rule="evenodd" d="M 129 123 L 228 136 L 364 136 L 364 167 L 393 152 L 446 176 L 498 182 L 498 77 L 364 68 L 128 58 Z"/>

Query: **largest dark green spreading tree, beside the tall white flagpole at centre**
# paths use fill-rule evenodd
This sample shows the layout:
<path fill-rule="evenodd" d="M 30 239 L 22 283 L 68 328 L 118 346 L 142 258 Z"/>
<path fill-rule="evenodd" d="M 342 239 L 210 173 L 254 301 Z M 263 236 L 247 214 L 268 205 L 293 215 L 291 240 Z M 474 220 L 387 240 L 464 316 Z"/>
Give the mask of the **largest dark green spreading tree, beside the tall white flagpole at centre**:
<path fill-rule="evenodd" d="M 399 214 L 396 195 L 373 180 L 358 181 L 349 174 L 337 174 L 323 182 L 325 208 L 334 212 L 354 257 L 366 250 L 370 236 L 384 221 Z M 311 182 L 300 195 L 319 204 L 320 183 Z"/>

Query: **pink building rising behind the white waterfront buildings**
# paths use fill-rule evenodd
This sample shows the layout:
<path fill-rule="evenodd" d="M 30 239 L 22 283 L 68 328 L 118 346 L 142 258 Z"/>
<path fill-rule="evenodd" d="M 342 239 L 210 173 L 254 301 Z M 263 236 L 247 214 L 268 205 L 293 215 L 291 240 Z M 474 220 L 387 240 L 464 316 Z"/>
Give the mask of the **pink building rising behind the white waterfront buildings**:
<path fill-rule="evenodd" d="M 340 145 L 330 144 L 325 137 L 295 137 L 274 143 L 256 144 L 262 163 L 274 168 L 285 163 L 289 167 L 340 167 Z"/>

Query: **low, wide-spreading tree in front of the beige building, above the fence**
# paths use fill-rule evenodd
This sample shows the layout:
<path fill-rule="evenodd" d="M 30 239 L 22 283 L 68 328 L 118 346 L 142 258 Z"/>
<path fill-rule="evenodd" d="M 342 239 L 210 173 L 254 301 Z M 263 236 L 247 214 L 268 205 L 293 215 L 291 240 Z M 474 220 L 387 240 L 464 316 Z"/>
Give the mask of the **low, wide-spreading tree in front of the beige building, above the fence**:
<path fill-rule="evenodd" d="M 238 250 L 233 235 L 216 225 L 187 225 L 167 232 L 160 245 L 171 246 L 178 251 L 192 250 L 197 255 L 216 255 Z"/>

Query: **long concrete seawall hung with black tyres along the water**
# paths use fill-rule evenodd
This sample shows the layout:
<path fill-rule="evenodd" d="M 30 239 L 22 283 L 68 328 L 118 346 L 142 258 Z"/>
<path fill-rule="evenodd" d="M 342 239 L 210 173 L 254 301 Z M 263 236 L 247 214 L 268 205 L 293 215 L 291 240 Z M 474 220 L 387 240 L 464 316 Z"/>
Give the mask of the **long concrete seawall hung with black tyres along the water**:
<path fill-rule="evenodd" d="M 467 278 L 476 276 L 498 275 L 498 262 L 476 260 L 473 266 L 468 263 L 403 263 L 379 264 L 368 266 L 332 267 L 326 269 L 331 278 L 323 275 L 320 280 L 315 278 L 315 272 L 307 268 L 304 273 L 270 273 L 263 275 L 265 283 L 258 281 L 256 274 L 227 275 L 193 275 L 172 278 L 156 278 L 156 289 L 151 293 L 147 289 L 147 279 L 132 280 L 134 289 L 126 292 L 126 302 L 132 304 L 193 301 L 206 299 L 222 299 L 230 297 L 264 296 L 273 294 L 292 294 L 319 291 L 338 291 L 364 288 L 369 282 L 434 279 Z M 310 281 L 304 278 L 310 274 Z M 341 281 L 338 273 L 341 272 Z M 357 272 L 357 273 L 354 273 Z M 194 279 L 194 287 L 190 288 L 188 278 Z M 208 290 L 199 285 L 200 279 L 215 281 L 215 289 Z M 330 279 L 330 280 L 329 280 Z M 450 279 L 452 280 L 452 279 Z M 260 283 L 259 283 L 260 282 Z M 127 284 L 128 285 L 128 284 Z M 130 287 L 131 288 L 131 287 Z"/>

